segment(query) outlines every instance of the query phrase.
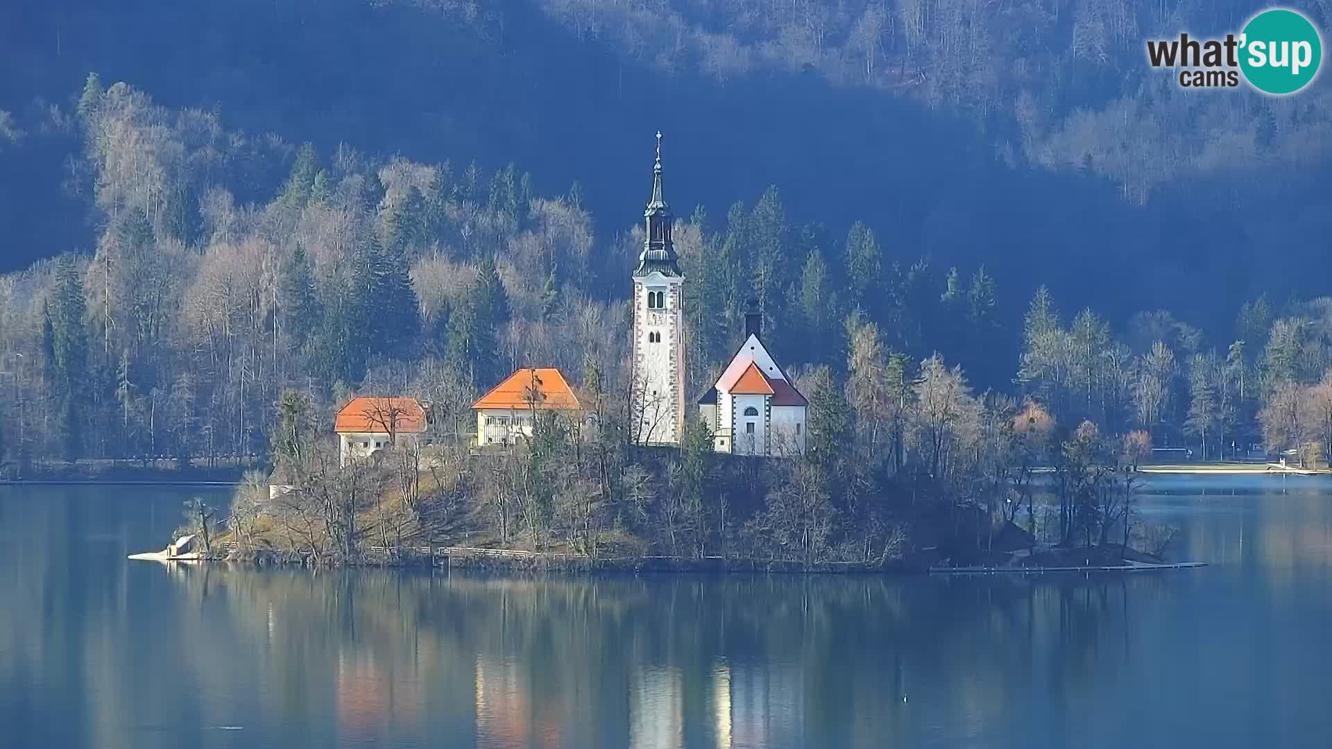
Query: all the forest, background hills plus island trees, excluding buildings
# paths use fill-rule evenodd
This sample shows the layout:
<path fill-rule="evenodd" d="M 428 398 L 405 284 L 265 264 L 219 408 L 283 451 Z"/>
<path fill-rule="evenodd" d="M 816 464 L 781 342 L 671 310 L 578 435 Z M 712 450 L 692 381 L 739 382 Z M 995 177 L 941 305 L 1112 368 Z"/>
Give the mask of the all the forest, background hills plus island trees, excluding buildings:
<path fill-rule="evenodd" d="M 1332 445 L 1332 301 L 1307 272 L 1332 236 L 1327 83 L 1191 95 L 1143 63 L 1144 37 L 1253 9 L 7 7 L 0 464 L 268 461 L 324 497 L 293 512 L 328 556 L 381 494 L 402 502 L 381 536 L 587 553 L 866 560 L 922 528 L 979 546 L 978 517 L 1128 540 L 1124 469 L 1151 446 Z M 806 460 L 615 426 L 657 129 L 687 392 L 755 296 L 811 400 Z M 526 365 L 609 428 L 472 460 L 470 402 Z M 353 393 L 434 405 L 457 449 L 426 489 L 328 460 Z"/>

